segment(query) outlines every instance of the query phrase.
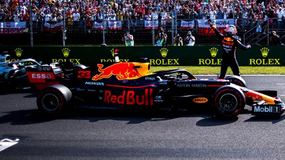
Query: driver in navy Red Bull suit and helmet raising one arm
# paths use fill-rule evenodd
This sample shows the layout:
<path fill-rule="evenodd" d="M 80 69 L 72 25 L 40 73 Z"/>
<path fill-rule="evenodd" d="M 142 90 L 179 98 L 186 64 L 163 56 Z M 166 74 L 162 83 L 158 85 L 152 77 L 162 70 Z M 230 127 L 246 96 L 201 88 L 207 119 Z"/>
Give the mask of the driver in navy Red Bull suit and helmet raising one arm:
<path fill-rule="evenodd" d="M 240 42 L 240 38 L 236 36 L 237 29 L 234 25 L 229 25 L 225 31 L 226 34 L 223 35 L 217 28 L 213 25 L 212 20 L 208 20 L 209 25 L 214 30 L 216 35 L 219 37 L 223 48 L 223 59 L 221 63 L 221 75 L 219 79 L 224 79 L 227 73 L 227 69 L 230 66 L 232 73 L 236 76 L 240 76 L 240 68 L 238 67 L 238 62 L 235 57 L 235 49 L 239 47 L 240 49 L 247 50 L 250 49 L 250 45 L 243 45 Z"/>

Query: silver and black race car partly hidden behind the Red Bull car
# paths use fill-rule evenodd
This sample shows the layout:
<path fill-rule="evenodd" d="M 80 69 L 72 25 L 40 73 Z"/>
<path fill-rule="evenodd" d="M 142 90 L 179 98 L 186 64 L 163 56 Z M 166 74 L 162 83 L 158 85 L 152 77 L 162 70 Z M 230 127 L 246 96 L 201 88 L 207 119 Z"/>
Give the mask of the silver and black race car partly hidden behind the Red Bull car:
<path fill-rule="evenodd" d="M 29 76 L 46 78 L 45 85 L 64 84 L 69 86 L 72 83 L 73 77 L 76 77 L 77 71 L 86 68 L 84 65 L 72 65 L 71 63 L 57 62 L 41 65 L 34 59 L 26 59 L 19 61 L 10 61 L 10 56 L 7 52 L 0 55 L 0 87 L 8 87 L 11 89 L 29 89 L 35 87 L 38 90 L 42 89 L 42 84 L 30 83 Z M 26 71 L 36 69 L 37 74 Z M 52 75 L 40 74 L 40 71 L 53 71 Z M 53 76 L 53 77 L 51 77 Z M 49 79 L 56 79 L 56 82 L 50 82 Z"/>

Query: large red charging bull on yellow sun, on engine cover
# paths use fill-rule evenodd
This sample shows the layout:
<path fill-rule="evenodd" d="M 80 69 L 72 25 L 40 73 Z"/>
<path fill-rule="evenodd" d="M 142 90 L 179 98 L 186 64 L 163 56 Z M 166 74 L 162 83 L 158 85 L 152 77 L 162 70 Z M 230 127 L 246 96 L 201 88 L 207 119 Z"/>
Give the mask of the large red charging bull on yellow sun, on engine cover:
<path fill-rule="evenodd" d="M 95 75 L 92 80 L 97 81 L 98 79 L 110 78 L 112 75 L 116 75 L 118 80 L 123 79 L 137 79 L 141 77 L 141 74 L 134 68 L 134 63 L 120 62 L 110 65 L 104 69 L 102 64 L 97 64 L 98 71 L 100 74 Z"/>

